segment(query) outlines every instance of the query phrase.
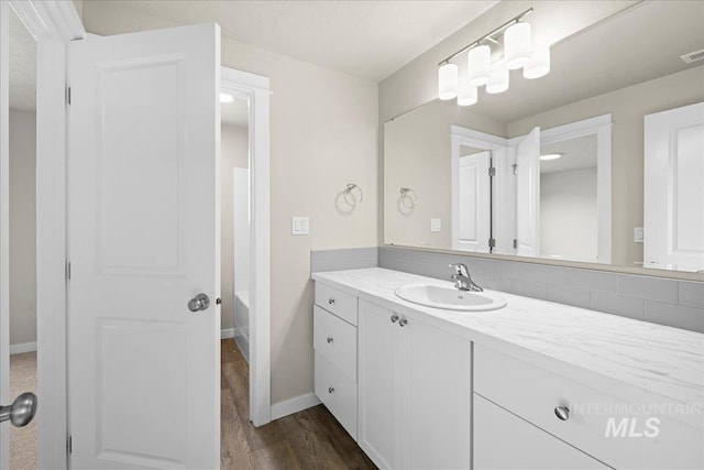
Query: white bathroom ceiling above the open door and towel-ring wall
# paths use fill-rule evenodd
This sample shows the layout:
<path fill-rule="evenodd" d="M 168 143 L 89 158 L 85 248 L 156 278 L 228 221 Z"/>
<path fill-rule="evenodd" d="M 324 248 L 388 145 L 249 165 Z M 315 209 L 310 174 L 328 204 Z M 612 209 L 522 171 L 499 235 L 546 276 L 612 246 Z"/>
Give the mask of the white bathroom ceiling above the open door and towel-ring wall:
<path fill-rule="evenodd" d="M 85 0 L 179 24 L 216 21 L 235 41 L 378 83 L 481 15 L 497 0 Z"/>

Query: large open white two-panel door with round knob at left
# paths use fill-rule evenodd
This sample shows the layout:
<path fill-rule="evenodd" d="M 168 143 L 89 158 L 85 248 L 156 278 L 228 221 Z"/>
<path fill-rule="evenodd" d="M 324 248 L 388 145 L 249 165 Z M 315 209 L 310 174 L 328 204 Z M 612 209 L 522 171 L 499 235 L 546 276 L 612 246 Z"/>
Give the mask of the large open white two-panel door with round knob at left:
<path fill-rule="evenodd" d="M 68 44 L 73 468 L 219 467 L 219 37 Z"/>

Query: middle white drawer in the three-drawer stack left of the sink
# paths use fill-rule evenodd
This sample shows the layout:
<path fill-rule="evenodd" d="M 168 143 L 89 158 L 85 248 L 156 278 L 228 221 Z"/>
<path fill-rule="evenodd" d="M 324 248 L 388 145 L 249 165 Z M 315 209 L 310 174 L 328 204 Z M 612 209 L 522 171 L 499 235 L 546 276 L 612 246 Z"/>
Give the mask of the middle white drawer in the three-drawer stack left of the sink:
<path fill-rule="evenodd" d="M 312 343 L 316 352 L 356 383 L 356 327 L 314 306 Z"/>

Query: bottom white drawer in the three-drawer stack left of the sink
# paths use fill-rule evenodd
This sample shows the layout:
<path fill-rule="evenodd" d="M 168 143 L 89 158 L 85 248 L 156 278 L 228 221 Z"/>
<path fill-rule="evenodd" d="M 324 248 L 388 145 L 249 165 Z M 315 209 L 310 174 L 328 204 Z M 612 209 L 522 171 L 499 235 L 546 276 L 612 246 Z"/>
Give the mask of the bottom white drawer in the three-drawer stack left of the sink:
<path fill-rule="evenodd" d="M 316 395 L 356 440 L 356 383 L 316 351 Z"/>

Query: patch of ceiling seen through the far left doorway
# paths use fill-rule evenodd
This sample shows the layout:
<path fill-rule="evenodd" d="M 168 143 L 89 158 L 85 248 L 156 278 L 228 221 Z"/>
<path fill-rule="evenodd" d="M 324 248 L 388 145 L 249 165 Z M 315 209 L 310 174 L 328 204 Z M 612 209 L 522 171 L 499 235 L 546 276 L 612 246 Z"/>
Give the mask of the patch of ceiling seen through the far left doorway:
<path fill-rule="evenodd" d="M 36 109 L 36 43 L 14 12 L 10 13 L 9 75 L 10 108 Z"/>

